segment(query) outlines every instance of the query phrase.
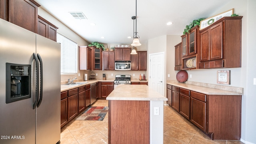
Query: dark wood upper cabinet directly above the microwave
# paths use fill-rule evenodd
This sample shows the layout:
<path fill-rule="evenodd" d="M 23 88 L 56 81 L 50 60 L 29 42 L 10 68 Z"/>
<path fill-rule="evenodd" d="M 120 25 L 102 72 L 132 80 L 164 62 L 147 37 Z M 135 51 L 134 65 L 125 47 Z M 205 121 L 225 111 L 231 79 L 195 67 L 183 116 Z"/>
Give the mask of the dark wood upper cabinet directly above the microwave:
<path fill-rule="evenodd" d="M 131 61 L 131 48 L 115 48 L 115 61 Z"/>

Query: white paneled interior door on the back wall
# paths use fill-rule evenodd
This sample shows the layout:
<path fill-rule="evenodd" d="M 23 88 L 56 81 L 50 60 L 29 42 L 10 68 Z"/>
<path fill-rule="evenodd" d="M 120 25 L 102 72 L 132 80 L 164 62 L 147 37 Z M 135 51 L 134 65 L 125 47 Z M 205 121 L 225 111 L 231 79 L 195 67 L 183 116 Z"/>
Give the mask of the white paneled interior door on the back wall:
<path fill-rule="evenodd" d="M 150 88 L 164 96 L 164 52 L 150 54 Z"/>

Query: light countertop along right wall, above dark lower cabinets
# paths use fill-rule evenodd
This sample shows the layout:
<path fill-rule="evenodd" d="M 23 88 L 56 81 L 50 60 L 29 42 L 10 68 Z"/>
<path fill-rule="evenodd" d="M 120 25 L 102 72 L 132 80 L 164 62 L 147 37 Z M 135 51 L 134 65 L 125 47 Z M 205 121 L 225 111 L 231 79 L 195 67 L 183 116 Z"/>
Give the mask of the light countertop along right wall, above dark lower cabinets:
<path fill-rule="evenodd" d="M 222 90 L 222 89 L 218 89 L 218 88 L 209 88 L 209 87 L 207 87 L 207 85 L 198 86 L 198 85 L 179 83 L 179 82 L 166 82 L 166 84 L 170 84 L 172 86 L 177 86 L 177 87 L 184 88 L 187 90 L 192 90 L 194 92 L 200 92 L 202 94 L 207 94 L 207 95 L 242 95 L 243 94 L 242 91 L 238 92 L 236 90 L 238 88 L 236 88 L 236 87 L 228 87 L 228 88 L 226 88 L 226 90 Z"/>

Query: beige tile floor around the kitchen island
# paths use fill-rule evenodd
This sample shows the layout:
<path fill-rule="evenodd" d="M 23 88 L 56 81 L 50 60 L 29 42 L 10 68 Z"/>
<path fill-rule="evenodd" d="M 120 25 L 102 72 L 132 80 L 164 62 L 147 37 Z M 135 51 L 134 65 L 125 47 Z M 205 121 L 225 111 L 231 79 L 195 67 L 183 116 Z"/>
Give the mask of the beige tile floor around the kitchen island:
<path fill-rule="evenodd" d="M 92 106 L 108 106 L 108 100 L 97 100 Z M 72 120 L 61 129 L 60 144 L 108 144 L 108 115 L 103 121 Z M 164 144 L 244 143 L 210 140 L 170 106 L 164 106 Z"/>

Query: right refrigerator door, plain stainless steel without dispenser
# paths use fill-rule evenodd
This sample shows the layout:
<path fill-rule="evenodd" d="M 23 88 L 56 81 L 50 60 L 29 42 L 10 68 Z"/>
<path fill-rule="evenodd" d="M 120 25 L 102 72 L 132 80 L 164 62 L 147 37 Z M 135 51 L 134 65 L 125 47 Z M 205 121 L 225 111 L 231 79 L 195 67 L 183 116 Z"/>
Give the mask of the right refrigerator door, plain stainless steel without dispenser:
<path fill-rule="evenodd" d="M 36 35 L 36 53 L 42 58 L 43 97 L 36 108 L 36 144 L 60 140 L 60 44 Z"/>

